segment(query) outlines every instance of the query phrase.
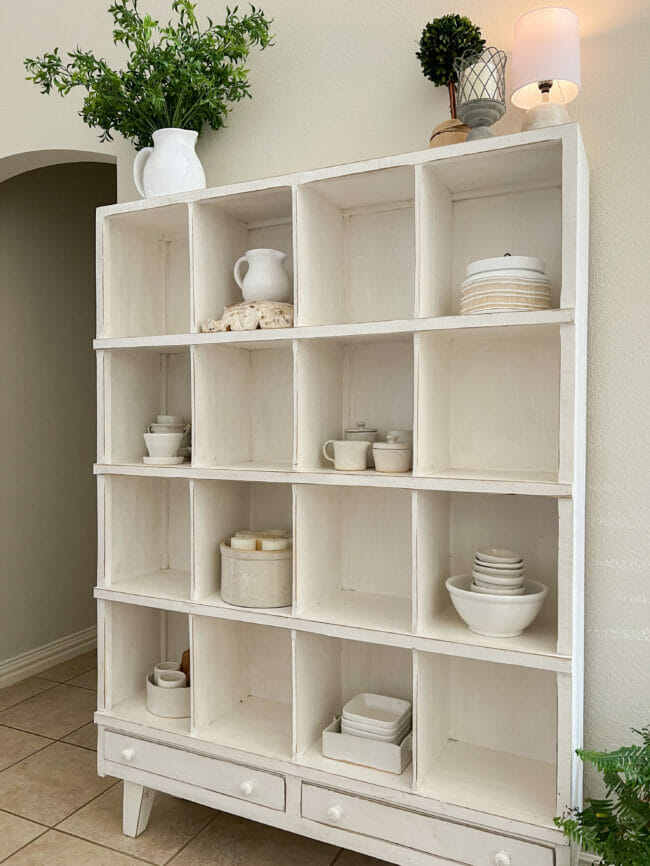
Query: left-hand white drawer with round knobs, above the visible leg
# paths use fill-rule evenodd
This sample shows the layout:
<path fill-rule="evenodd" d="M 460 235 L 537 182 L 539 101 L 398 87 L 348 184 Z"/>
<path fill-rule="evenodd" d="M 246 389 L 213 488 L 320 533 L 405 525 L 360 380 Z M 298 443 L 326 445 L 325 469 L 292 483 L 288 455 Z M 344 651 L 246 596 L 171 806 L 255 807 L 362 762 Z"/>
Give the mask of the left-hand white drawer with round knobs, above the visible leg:
<path fill-rule="evenodd" d="M 149 743 L 107 731 L 104 739 L 107 761 L 177 779 L 239 800 L 284 811 L 284 778 L 262 773 L 241 764 L 195 755 L 183 749 Z"/>

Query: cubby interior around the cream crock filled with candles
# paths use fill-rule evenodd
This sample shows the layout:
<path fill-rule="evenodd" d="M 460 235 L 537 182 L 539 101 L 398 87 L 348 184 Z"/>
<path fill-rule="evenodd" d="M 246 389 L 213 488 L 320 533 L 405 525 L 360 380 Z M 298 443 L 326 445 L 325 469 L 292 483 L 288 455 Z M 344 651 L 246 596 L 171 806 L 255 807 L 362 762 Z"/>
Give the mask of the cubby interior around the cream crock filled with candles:
<path fill-rule="evenodd" d="M 226 603 L 220 594 L 220 543 L 238 529 L 290 530 L 291 485 L 195 481 L 193 495 L 194 598 L 222 607 Z M 274 608 L 271 612 L 290 614 L 291 607 Z"/>

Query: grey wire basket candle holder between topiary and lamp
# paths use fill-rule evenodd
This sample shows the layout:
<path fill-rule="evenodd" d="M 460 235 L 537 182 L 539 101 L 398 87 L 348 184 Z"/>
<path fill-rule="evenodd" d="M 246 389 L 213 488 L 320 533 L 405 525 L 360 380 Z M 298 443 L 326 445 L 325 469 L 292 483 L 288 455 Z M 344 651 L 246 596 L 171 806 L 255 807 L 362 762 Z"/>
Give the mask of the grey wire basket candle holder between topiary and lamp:
<path fill-rule="evenodd" d="M 489 138 L 489 127 L 506 111 L 506 53 L 499 48 L 485 48 L 480 54 L 459 57 L 454 67 L 458 78 L 456 111 L 460 120 L 471 127 L 467 136 Z"/>

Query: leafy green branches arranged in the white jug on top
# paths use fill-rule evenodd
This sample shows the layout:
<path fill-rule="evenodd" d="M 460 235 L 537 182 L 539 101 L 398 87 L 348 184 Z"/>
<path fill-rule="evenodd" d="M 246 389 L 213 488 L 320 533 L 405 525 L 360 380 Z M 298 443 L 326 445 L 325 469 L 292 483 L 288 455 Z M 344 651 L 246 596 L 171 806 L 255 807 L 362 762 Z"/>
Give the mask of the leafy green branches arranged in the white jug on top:
<path fill-rule="evenodd" d="M 156 129 L 180 127 L 201 131 L 224 126 L 231 103 L 250 97 L 248 69 L 244 65 L 253 46 L 272 44 L 272 19 L 251 5 L 238 14 L 226 9 L 223 24 L 210 18 L 201 27 L 196 3 L 173 0 L 176 20 L 162 26 L 141 13 L 138 0 L 116 0 L 113 42 L 129 52 L 124 69 L 112 69 L 91 51 L 76 48 L 65 62 L 59 49 L 26 59 L 25 66 L 42 93 L 56 89 L 66 96 L 84 87 L 87 96 L 79 114 L 91 127 L 102 130 L 102 141 L 120 132 L 136 148 L 151 145 Z"/>

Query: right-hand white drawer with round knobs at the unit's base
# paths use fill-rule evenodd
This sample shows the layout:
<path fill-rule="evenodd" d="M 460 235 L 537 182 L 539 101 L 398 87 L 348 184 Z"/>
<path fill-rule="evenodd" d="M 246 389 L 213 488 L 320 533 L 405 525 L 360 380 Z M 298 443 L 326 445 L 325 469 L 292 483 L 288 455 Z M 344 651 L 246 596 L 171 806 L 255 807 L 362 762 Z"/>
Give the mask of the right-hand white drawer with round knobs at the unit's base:
<path fill-rule="evenodd" d="M 466 866 L 553 866 L 554 861 L 551 848 L 314 785 L 302 786 L 302 817 Z"/>

